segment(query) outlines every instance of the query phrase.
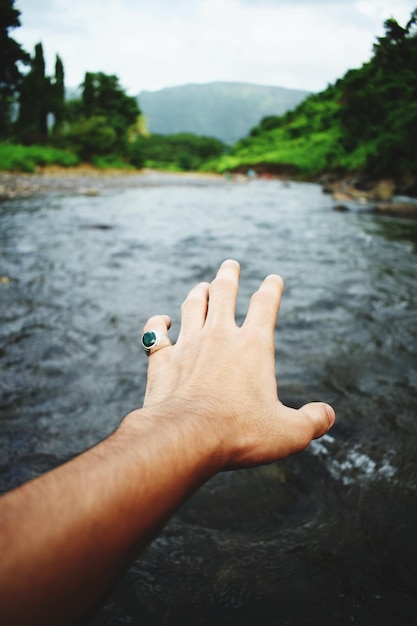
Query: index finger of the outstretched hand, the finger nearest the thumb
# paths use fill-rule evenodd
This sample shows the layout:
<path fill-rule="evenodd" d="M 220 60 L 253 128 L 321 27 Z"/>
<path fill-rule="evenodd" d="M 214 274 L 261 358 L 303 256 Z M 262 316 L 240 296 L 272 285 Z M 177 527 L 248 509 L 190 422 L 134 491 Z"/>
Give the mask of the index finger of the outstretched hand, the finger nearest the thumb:
<path fill-rule="evenodd" d="M 250 300 L 243 327 L 259 331 L 274 330 L 278 310 L 284 292 L 284 281 L 277 274 L 270 274 Z"/>

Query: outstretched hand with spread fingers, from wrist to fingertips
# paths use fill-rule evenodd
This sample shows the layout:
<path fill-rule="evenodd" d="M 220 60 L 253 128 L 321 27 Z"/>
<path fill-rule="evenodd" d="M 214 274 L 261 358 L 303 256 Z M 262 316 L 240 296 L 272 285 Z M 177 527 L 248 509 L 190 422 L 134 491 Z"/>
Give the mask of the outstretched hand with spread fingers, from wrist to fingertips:
<path fill-rule="evenodd" d="M 298 452 L 335 420 L 327 404 L 295 410 L 279 401 L 274 328 L 283 281 L 277 275 L 265 278 L 238 327 L 239 272 L 236 261 L 225 261 L 213 282 L 190 291 L 178 341 L 149 356 L 144 401 L 144 407 L 159 407 L 160 414 L 168 410 L 172 419 L 194 420 L 196 438 L 213 438 L 219 469 L 268 463 Z M 157 315 L 144 331 L 168 333 L 170 325 L 168 316 Z"/>

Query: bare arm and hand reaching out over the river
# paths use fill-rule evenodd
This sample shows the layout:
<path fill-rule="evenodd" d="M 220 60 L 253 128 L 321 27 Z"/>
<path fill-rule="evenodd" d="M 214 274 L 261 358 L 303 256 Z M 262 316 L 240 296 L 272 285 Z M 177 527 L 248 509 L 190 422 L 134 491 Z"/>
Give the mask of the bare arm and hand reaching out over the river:
<path fill-rule="evenodd" d="M 325 403 L 278 399 L 268 276 L 235 322 L 239 265 L 182 306 L 177 343 L 149 357 L 144 405 L 106 440 L 0 498 L 0 623 L 80 624 L 181 502 L 215 473 L 269 463 L 325 434 Z M 144 330 L 168 333 L 166 315 Z"/>

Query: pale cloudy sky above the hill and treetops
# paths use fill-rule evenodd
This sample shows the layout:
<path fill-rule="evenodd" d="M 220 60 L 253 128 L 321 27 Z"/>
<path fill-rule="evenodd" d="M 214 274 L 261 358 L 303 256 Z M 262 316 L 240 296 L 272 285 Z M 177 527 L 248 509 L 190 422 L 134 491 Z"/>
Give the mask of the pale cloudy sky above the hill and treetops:
<path fill-rule="evenodd" d="M 67 86 L 116 74 L 130 95 L 239 81 L 320 91 L 372 53 L 417 0 L 15 0 L 25 49 L 58 53 Z"/>

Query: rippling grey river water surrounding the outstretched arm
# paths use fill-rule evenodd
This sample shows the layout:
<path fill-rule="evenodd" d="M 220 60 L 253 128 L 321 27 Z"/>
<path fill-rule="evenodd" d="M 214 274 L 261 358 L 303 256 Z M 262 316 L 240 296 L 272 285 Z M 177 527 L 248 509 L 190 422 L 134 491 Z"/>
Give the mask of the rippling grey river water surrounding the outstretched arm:
<path fill-rule="evenodd" d="M 140 406 L 139 329 L 228 257 L 237 319 L 286 284 L 282 400 L 333 404 L 290 459 L 214 477 L 94 626 L 417 623 L 417 222 L 339 213 L 314 184 L 150 176 L 0 204 L 0 488 L 92 445 Z"/>

